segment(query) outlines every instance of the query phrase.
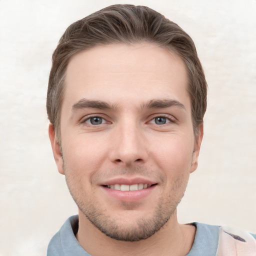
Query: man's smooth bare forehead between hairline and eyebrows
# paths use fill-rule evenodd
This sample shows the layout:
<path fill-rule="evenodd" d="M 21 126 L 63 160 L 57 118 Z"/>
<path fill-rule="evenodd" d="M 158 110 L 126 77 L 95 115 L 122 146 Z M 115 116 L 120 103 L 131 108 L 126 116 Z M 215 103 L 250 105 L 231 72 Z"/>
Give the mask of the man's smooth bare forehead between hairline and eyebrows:
<path fill-rule="evenodd" d="M 166 48 L 149 43 L 96 46 L 70 59 L 63 104 L 81 98 L 117 104 L 164 97 L 189 101 L 186 85 L 184 62 Z"/>

